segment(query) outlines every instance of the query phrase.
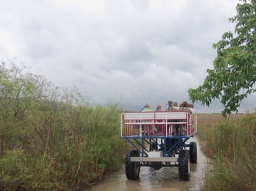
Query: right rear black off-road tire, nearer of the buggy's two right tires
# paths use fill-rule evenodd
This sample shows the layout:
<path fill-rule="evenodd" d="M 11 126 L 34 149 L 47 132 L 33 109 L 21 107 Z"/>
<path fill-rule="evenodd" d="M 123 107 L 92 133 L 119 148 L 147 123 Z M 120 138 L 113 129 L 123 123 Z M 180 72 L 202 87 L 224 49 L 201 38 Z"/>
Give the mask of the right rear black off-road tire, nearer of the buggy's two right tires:
<path fill-rule="evenodd" d="M 178 158 L 180 180 L 190 180 L 190 153 L 189 150 L 180 150 Z"/>

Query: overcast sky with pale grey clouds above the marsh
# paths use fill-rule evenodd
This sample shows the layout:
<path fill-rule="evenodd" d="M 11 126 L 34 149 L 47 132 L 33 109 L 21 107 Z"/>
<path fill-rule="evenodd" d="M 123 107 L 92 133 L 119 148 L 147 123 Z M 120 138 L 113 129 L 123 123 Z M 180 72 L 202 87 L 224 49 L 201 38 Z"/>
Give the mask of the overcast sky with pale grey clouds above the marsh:
<path fill-rule="evenodd" d="M 0 0 L 0 59 L 16 58 L 89 103 L 188 100 L 233 31 L 238 0 Z M 242 111 L 251 109 L 245 101 Z M 195 104 L 198 112 L 220 112 Z"/>

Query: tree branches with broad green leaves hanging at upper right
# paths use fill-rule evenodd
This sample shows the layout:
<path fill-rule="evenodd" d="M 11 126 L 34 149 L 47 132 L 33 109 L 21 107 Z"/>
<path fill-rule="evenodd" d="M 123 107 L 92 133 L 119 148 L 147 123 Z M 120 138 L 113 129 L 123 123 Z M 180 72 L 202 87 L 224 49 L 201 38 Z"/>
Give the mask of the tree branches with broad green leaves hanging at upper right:
<path fill-rule="evenodd" d="M 188 90 L 190 100 L 203 105 L 220 99 L 223 115 L 237 112 L 241 101 L 256 91 L 256 0 L 240 1 L 237 15 L 230 18 L 235 33 L 226 32 L 213 44 L 214 68 L 208 69 L 203 85 Z"/>

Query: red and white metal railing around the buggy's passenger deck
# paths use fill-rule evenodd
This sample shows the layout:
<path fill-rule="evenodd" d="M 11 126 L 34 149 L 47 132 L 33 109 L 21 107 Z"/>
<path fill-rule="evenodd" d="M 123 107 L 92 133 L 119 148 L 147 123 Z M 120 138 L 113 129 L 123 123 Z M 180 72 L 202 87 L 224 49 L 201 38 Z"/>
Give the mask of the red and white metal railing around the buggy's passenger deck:
<path fill-rule="evenodd" d="M 191 136 L 197 132 L 197 116 L 183 111 L 126 112 L 121 115 L 121 137 Z"/>

